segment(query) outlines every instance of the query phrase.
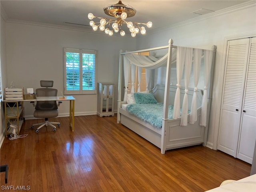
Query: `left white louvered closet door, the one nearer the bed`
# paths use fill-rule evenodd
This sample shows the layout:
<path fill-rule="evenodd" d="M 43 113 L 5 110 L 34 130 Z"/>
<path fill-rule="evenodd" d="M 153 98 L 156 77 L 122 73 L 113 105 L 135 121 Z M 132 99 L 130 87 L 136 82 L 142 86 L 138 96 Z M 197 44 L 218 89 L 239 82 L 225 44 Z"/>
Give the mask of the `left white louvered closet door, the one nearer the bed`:
<path fill-rule="evenodd" d="M 218 150 L 236 157 L 250 38 L 228 41 Z"/>

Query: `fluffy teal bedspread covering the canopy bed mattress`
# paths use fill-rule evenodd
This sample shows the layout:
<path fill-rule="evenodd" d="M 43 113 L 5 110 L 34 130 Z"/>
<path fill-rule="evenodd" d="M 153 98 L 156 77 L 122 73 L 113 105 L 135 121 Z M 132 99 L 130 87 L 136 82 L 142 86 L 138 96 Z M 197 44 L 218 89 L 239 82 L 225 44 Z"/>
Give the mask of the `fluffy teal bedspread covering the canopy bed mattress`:
<path fill-rule="evenodd" d="M 162 128 L 163 103 L 157 104 L 129 104 L 126 110 L 136 117 L 152 124 L 155 127 Z M 180 109 L 181 113 L 181 109 Z M 173 118 L 173 106 L 168 106 L 168 119 Z"/>

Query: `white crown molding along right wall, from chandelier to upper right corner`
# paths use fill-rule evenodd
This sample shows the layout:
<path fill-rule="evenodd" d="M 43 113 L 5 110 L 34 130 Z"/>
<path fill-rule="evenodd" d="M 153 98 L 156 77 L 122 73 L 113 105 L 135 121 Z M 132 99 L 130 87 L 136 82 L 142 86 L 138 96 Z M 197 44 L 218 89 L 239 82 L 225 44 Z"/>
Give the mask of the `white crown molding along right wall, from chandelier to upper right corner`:
<path fill-rule="evenodd" d="M 256 0 L 250 0 L 248 2 L 244 2 L 244 3 L 238 4 L 238 5 L 232 6 L 232 7 L 224 8 L 222 10 L 218 10 L 218 11 L 215 11 L 215 12 L 212 12 L 212 13 L 209 13 L 209 14 L 205 14 L 205 15 L 196 17 L 196 18 L 192 18 L 192 19 L 189 19 L 189 20 L 186 20 L 186 21 L 182 21 L 182 22 L 170 25 L 170 26 L 165 26 L 165 27 L 162 27 L 162 28 L 159 28 L 159 29 L 156 29 L 156 30 L 152 30 L 152 31 L 149 31 L 148 33 L 155 34 L 155 33 L 158 33 L 162 30 L 168 30 L 168 29 L 173 29 L 173 28 L 177 28 L 177 27 L 181 27 L 181 26 L 186 26 L 188 24 L 197 23 L 197 22 L 200 22 L 200 21 L 203 21 L 203 20 L 207 20 L 207 19 L 218 17 L 218 16 L 230 14 L 232 12 L 248 9 L 248 8 L 251 8 L 251 7 L 256 7 Z"/>

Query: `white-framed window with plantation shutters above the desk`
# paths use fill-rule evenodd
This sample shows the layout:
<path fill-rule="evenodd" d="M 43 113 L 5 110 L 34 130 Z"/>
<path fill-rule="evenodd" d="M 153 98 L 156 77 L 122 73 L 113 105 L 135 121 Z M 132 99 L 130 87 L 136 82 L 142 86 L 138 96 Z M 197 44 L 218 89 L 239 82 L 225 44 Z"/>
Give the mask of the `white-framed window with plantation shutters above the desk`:
<path fill-rule="evenodd" d="M 64 94 L 96 94 L 96 50 L 64 48 Z"/>

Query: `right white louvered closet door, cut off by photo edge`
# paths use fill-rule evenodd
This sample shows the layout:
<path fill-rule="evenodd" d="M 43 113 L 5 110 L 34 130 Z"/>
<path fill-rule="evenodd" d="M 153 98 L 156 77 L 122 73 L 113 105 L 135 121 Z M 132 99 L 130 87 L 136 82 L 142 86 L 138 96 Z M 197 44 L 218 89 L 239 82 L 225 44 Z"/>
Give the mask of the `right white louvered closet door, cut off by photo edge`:
<path fill-rule="evenodd" d="M 256 37 L 251 39 L 237 158 L 252 164 L 256 140 Z"/>

